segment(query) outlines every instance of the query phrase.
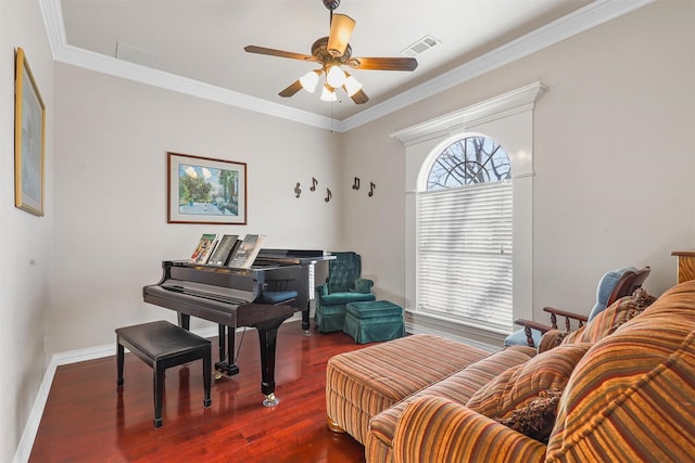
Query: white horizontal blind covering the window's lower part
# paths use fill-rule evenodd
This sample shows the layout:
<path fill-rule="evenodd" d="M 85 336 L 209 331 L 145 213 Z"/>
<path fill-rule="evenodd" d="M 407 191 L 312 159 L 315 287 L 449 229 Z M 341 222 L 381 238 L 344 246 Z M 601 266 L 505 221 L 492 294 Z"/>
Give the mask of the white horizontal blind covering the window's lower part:
<path fill-rule="evenodd" d="M 511 181 L 417 193 L 417 310 L 508 333 Z"/>

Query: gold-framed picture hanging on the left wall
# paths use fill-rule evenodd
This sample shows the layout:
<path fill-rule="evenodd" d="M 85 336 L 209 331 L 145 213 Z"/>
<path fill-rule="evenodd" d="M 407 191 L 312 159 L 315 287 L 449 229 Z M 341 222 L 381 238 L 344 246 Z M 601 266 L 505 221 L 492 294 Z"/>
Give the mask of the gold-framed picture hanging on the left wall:
<path fill-rule="evenodd" d="M 24 50 L 17 48 L 14 97 L 14 205 L 43 216 L 46 105 Z"/>

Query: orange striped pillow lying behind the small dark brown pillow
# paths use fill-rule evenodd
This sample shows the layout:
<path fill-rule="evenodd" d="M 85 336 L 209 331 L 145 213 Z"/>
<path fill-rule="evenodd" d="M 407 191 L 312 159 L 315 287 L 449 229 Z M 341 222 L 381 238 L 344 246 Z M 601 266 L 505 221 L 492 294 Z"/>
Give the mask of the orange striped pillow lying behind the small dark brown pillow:
<path fill-rule="evenodd" d="M 589 343 L 561 345 L 501 373 L 473 394 L 466 407 L 491 419 L 507 417 L 542 390 L 564 389 Z"/>

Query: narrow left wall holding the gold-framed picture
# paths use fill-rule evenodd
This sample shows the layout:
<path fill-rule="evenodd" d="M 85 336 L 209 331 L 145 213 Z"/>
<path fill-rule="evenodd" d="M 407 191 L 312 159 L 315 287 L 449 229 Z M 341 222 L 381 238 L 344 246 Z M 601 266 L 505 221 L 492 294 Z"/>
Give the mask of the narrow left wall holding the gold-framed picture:
<path fill-rule="evenodd" d="M 14 56 L 24 49 L 47 106 L 45 217 L 14 207 Z M 53 271 L 53 62 L 35 1 L 0 1 L 0 461 L 12 460 L 47 365 Z"/>

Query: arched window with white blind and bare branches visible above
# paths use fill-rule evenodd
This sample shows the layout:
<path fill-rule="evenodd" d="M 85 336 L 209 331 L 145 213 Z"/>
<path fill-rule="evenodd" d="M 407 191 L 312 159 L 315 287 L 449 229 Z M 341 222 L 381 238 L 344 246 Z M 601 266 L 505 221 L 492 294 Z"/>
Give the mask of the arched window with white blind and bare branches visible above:
<path fill-rule="evenodd" d="M 427 190 L 417 195 L 417 310 L 506 331 L 513 322 L 509 157 L 484 136 L 458 138 L 430 156 Z"/>

